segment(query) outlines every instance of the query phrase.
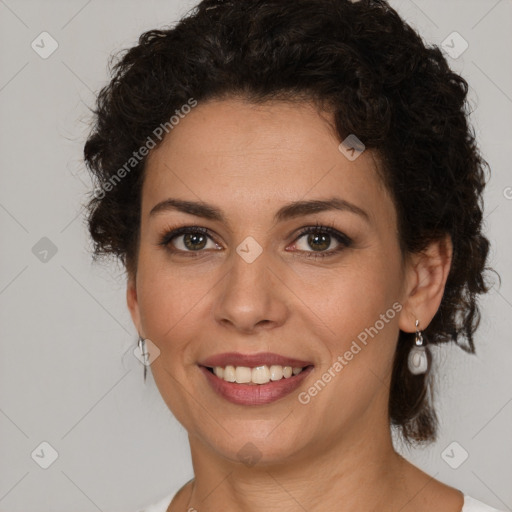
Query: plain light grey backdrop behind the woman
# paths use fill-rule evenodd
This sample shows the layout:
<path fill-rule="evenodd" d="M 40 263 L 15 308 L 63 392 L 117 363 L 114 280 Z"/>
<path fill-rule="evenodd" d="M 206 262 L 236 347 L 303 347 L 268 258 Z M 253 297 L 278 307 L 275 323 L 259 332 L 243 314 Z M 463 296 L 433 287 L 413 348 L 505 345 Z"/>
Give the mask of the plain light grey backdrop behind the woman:
<path fill-rule="evenodd" d="M 512 510 L 512 2 L 391 3 L 427 41 L 457 31 L 469 43 L 449 60 L 469 81 L 493 171 L 486 229 L 502 276 L 481 302 L 477 356 L 436 351 L 438 442 L 399 449 L 435 478 Z M 1 511 L 133 511 L 192 476 L 186 432 L 131 353 L 122 269 L 92 264 L 80 206 L 90 187 L 88 107 L 109 55 L 192 5 L 0 0 Z M 31 47 L 43 31 L 59 45 L 46 59 Z M 457 469 L 442 456 L 454 441 L 452 459 L 469 454 Z M 42 442 L 58 453 L 48 469 Z"/>

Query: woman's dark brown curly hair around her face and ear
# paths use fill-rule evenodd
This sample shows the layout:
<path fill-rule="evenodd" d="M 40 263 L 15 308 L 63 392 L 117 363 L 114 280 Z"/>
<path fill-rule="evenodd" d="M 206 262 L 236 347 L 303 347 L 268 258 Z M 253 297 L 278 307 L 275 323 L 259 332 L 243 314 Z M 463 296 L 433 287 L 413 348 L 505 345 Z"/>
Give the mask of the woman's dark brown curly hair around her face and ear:
<path fill-rule="evenodd" d="M 111 72 L 84 148 L 96 186 L 87 205 L 95 258 L 114 255 L 135 274 L 146 161 L 137 150 L 158 144 L 155 128 L 169 128 L 191 98 L 309 101 L 333 115 L 340 141 L 357 134 L 375 149 L 402 254 L 451 237 L 444 296 L 424 336 L 465 340 L 475 352 L 477 296 L 489 290 L 488 165 L 468 122 L 468 85 L 386 1 L 203 0 L 172 28 L 142 34 Z M 432 372 L 407 369 L 413 336 L 400 331 L 389 401 L 391 425 L 409 444 L 433 441 L 438 425 Z"/>

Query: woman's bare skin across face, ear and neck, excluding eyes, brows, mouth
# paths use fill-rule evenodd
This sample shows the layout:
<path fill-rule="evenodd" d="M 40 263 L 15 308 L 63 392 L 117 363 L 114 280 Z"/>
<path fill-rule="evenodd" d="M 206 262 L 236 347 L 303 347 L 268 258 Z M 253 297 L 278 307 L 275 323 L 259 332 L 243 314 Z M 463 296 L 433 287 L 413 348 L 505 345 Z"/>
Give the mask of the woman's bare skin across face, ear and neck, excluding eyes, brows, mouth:
<path fill-rule="evenodd" d="M 189 434 L 195 480 L 170 511 L 462 508 L 459 491 L 394 451 L 387 412 L 399 329 L 414 332 L 416 319 L 424 328 L 436 313 L 450 241 L 402 258 L 378 158 L 366 150 L 349 161 L 328 121 L 304 103 L 210 101 L 149 156 L 127 301 L 138 332 L 160 350 L 151 365 L 155 382 Z M 274 222 L 285 204 L 332 197 L 363 209 L 368 220 L 332 210 Z M 150 215 L 168 198 L 212 204 L 226 222 L 171 210 Z M 317 251 L 308 235 L 298 236 L 316 224 L 352 243 L 308 258 Z M 169 228 L 185 225 L 208 228 L 213 240 L 189 249 L 192 257 L 184 255 L 183 235 L 159 245 Z M 263 249 L 252 263 L 236 252 L 248 236 Z M 340 246 L 330 240 L 327 251 Z M 297 357 L 314 364 L 304 391 L 395 302 L 401 311 L 306 405 L 298 392 L 267 405 L 232 404 L 197 365 L 231 351 Z M 248 442 L 258 452 L 252 466 L 238 456 Z"/>

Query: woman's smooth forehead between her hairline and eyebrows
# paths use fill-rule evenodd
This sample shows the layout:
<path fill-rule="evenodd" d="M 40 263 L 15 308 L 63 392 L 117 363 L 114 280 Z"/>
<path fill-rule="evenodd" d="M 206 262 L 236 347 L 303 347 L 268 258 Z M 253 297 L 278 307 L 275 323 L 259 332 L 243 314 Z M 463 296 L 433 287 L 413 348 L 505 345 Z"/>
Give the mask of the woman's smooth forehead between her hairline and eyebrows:
<path fill-rule="evenodd" d="M 333 195 L 371 204 L 382 215 L 389 205 L 374 155 L 367 150 L 347 159 L 330 122 L 310 103 L 199 103 L 148 157 L 143 215 L 167 196 L 250 217 L 287 201 Z"/>

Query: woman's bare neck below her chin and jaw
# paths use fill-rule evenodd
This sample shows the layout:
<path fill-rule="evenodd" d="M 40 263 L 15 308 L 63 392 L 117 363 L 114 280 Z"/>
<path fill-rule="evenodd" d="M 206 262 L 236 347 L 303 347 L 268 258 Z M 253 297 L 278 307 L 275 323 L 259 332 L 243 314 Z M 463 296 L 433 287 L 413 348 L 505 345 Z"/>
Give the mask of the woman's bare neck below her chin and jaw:
<path fill-rule="evenodd" d="M 252 466 L 219 457 L 190 438 L 196 476 L 186 510 L 319 512 L 341 504 L 344 512 L 399 509 L 410 464 L 394 450 L 387 419 L 379 426 L 364 420 L 287 460 Z"/>

